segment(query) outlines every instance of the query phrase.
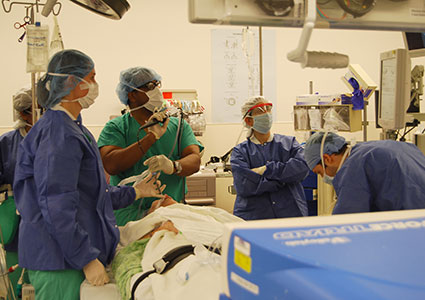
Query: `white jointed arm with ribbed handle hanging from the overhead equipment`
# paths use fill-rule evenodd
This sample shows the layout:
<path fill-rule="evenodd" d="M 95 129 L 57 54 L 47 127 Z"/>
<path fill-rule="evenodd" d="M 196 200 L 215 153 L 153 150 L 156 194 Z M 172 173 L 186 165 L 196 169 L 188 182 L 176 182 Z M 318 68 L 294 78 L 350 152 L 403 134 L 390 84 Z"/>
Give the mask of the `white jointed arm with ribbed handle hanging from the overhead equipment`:
<path fill-rule="evenodd" d="M 345 54 L 335 52 L 307 51 L 311 33 L 316 24 L 316 0 L 308 0 L 307 16 L 304 21 L 303 31 L 298 43 L 298 48 L 287 54 L 287 58 L 293 62 L 301 63 L 303 68 L 345 68 L 349 58 Z"/>

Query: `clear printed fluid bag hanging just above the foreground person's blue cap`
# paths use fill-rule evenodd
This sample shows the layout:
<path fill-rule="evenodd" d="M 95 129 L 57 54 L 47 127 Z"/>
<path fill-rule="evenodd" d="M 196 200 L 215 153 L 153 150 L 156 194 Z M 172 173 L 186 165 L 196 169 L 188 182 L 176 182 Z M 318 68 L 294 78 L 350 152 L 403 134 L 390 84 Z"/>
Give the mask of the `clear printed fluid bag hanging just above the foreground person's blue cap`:
<path fill-rule="evenodd" d="M 27 25 L 27 73 L 46 72 L 49 62 L 49 27 Z"/>

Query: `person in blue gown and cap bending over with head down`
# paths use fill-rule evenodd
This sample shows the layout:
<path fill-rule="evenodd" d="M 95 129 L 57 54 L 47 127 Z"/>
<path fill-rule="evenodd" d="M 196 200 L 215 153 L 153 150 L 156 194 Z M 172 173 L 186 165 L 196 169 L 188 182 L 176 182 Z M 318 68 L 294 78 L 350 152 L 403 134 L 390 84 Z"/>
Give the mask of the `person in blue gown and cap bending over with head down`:
<path fill-rule="evenodd" d="M 333 185 L 333 214 L 425 208 L 425 156 L 411 143 L 371 141 L 351 148 L 338 134 L 317 132 L 306 143 L 305 158 Z"/>

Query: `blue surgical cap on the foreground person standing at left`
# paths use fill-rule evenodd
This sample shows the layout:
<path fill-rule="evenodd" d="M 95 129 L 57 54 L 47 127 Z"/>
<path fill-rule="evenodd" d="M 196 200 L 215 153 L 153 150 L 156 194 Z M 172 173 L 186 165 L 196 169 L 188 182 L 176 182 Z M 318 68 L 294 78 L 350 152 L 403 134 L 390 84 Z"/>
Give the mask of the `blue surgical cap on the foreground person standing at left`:
<path fill-rule="evenodd" d="M 47 73 L 37 84 L 38 103 L 44 108 L 51 108 L 68 95 L 94 69 L 93 60 L 78 50 L 62 50 L 50 59 Z M 53 74 L 52 74 L 53 73 Z M 54 74 L 74 75 L 69 76 Z"/>

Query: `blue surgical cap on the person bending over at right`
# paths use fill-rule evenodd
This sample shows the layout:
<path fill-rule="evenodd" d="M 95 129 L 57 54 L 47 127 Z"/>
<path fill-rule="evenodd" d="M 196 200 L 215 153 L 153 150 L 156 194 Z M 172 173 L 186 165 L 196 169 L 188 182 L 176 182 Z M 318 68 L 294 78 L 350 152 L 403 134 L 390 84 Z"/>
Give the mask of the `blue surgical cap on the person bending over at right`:
<path fill-rule="evenodd" d="M 320 146 L 322 143 L 324 132 L 316 132 L 306 142 L 304 149 L 304 158 L 310 170 L 322 160 L 320 158 Z M 323 154 L 338 153 L 346 144 L 342 136 L 333 132 L 328 132 L 325 144 L 323 145 Z"/>

